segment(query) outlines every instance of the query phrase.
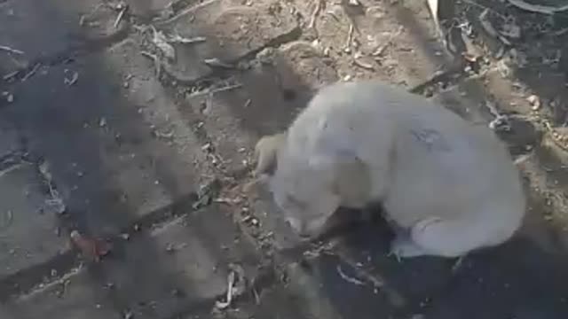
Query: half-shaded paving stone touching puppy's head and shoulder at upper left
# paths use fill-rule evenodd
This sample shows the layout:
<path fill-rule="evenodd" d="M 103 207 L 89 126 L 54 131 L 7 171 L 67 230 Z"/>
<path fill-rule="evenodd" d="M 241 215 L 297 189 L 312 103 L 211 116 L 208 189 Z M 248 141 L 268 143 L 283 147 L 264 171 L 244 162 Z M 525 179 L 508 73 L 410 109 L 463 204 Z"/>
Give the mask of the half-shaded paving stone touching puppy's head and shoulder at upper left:
<path fill-rule="evenodd" d="M 334 68 L 308 43 L 263 51 L 259 60 L 234 76 L 240 88 L 188 99 L 193 112 L 201 113 L 215 151 L 233 171 L 248 167 L 250 150 L 259 136 L 287 128 L 314 89 L 337 80 Z"/>

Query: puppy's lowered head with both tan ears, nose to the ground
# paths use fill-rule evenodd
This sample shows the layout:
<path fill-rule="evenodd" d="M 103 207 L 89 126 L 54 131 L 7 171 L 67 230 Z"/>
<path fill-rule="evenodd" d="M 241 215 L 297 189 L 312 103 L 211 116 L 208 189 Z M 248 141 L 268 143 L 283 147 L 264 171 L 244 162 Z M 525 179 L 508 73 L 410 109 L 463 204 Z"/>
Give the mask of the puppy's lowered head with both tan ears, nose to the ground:
<path fill-rule="evenodd" d="M 363 206 L 368 198 L 367 167 L 350 153 L 312 157 L 292 154 L 286 136 L 256 144 L 256 173 L 267 176 L 270 191 L 298 234 L 318 236 L 339 206 Z"/>

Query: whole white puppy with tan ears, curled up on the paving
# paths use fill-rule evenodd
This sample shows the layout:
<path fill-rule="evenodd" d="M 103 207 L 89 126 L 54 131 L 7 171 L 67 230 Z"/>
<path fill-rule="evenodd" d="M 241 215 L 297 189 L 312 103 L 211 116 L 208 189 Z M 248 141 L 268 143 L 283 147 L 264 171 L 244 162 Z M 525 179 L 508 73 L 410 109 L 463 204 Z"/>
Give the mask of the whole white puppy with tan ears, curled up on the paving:
<path fill-rule="evenodd" d="M 525 214 L 517 167 L 491 130 L 381 82 L 320 89 L 256 156 L 257 173 L 275 166 L 273 198 L 299 234 L 317 234 L 339 206 L 381 201 L 399 257 L 500 245 Z"/>

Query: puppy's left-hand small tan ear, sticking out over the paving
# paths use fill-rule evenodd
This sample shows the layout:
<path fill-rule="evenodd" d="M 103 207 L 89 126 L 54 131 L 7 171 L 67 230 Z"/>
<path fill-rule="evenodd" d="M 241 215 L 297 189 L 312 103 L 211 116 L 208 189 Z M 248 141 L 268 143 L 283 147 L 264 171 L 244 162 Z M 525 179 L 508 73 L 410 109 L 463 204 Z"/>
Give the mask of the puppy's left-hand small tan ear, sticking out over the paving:
<path fill-rule="evenodd" d="M 256 168 L 254 175 L 272 175 L 277 166 L 278 152 L 286 143 L 286 133 L 263 136 L 255 146 Z"/>

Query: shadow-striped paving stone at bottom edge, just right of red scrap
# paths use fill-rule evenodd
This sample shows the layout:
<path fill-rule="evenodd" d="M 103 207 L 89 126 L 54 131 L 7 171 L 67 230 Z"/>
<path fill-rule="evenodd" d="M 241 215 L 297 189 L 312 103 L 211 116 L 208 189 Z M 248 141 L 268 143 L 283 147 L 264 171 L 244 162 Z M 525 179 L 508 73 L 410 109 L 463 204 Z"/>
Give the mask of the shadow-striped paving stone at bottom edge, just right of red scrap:
<path fill-rule="evenodd" d="M 254 247 L 241 240 L 230 211 L 212 206 L 130 234 L 111 255 L 60 284 L 9 302 L 18 318 L 170 318 L 211 310 L 225 294 L 229 264 L 256 276 Z M 50 316 L 51 317 L 51 316 Z"/>

